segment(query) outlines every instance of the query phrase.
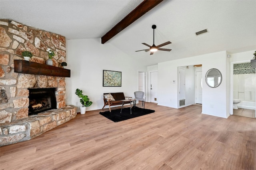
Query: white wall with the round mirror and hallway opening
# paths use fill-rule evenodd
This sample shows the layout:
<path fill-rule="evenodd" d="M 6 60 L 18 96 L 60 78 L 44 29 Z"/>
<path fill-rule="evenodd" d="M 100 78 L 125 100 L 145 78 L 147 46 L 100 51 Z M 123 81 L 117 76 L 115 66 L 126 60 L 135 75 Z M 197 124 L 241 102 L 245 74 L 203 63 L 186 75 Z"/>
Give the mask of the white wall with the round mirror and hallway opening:
<path fill-rule="evenodd" d="M 222 73 L 222 83 L 217 88 L 208 87 L 205 81 L 203 81 L 202 113 L 226 118 L 229 115 L 227 111 L 229 111 L 230 105 L 227 103 L 227 95 L 229 98 L 226 77 L 227 62 L 226 51 L 220 51 L 158 63 L 158 105 L 178 108 L 178 83 L 172 83 L 173 80 L 178 82 L 177 67 L 202 64 L 203 77 L 211 68 L 216 68 Z"/>

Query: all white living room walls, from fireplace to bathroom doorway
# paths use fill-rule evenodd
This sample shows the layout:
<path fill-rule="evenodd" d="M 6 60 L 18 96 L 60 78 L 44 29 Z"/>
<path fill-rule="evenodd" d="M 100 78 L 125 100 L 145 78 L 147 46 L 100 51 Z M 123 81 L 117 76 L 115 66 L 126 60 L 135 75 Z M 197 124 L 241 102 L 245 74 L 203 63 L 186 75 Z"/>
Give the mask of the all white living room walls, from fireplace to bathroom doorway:
<path fill-rule="evenodd" d="M 158 105 L 178 108 L 178 67 L 202 64 L 203 80 L 211 68 L 219 69 L 222 73 L 222 83 L 217 88 L 210 88 L 203 81 L 202 113 L 224 118 L 228 117 L 232 107 L 230 63 L 250 61 L 254 53 L 235 53 L 227 58 L 226 51 L 220 51 L 144 67 L 110 43 L 101 44 L 100 39 L 67 40 L 66 45 L 67 68 L 71 69 L 71 78 L 66 78 L 68 105 L 76 105 L 77 102 L 76 106 L 81 105 L 75 95 L 76 88 L 79 88 L 93 102 L 87 110 L 102 109 L 103 93 L 124 92 L 126 96 L 133 97 L 134 91 L 138 90 L 138 71 L 147 71 L 148 74 L 150 71 L 158 71 Z M 122 87 L 102 87 L 103 70 L 122 71 Z M 173 80 L 176 81 L 175 84 L 172 83 Z M 148 88 L 147 86 L 146 91 Z M 149 97 L 148 95 L 148 99 Z"/>

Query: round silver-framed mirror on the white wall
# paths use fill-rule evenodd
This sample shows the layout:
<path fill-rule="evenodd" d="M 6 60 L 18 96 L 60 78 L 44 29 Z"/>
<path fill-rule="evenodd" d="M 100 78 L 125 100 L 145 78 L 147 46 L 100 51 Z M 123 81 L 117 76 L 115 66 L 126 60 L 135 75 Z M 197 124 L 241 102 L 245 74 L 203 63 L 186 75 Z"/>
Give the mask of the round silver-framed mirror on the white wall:
<path fill-rule="evenodd" d="M 205 81 L 209 87 L 218 87 L 222 81 L 222 75 L 218 69 L 209 69 L 205 75 Z"/>

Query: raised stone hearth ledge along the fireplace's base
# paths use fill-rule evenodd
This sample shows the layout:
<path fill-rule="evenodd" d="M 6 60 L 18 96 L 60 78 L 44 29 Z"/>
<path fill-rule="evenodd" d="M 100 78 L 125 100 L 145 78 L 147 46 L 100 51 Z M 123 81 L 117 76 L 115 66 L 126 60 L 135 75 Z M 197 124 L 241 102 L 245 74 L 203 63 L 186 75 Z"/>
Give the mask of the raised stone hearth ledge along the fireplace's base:
<path fill-rule="evenodd" d="M 66 106 L 0 126 L 0 146 L 22 142 L 51 130 L 76 117 L 76 107 Z"/>

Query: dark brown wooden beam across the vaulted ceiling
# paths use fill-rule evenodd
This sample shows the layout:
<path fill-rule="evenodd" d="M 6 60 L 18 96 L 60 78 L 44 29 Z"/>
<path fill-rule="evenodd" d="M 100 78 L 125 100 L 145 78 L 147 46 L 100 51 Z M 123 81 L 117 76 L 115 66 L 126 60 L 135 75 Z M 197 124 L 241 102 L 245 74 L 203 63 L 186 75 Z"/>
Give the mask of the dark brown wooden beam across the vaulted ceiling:
<path fill-rule="evenodd" d="M 122 19 L 116 26 L 114 26 L 109 32 L 107 32 L 102 38 L 101 43 L 104 44 L 116 34 L 124 30 L 134 21 L 138 20 L 141 16 L 146 14 L 149 10 L 157 6 L 163 0 L 144 0 L 139 6 L 137 6 L 130 14 L 128 14 L 124 19 Z"/>

